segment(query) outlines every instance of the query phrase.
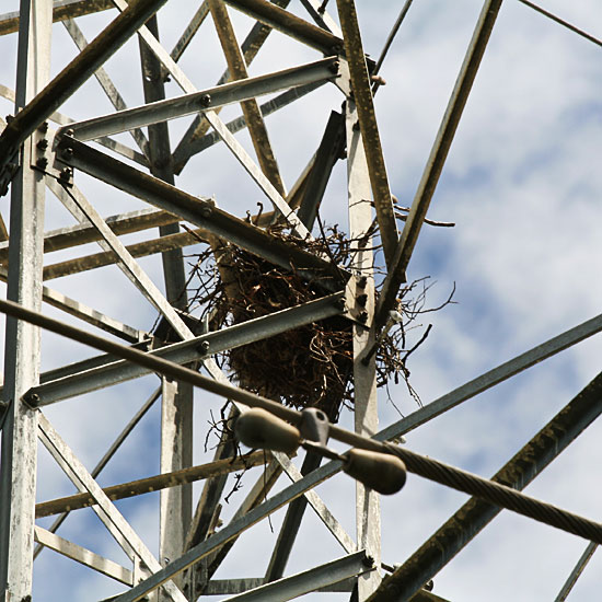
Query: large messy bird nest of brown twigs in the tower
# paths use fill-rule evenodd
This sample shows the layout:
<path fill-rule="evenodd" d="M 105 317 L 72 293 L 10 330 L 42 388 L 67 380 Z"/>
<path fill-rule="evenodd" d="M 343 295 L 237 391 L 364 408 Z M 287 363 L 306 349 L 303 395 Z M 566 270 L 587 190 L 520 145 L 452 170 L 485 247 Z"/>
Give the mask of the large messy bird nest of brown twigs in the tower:
<path fill-rule="evenodd" d="M 327 256 L 340 268 L 354 267 L 357 244 L 336 227 L 312 241 L 278 230 L 270 233 L 312 254 Z M 308 280 L 293 265 L 285 269 L 217 240 L 194 258 L 189 312 L 200 311 L 211 331 L 293 308 L 329 292 L 320 277 Z M 333 281 L 332 274 L 328 278 Z M 344 289 L 345 280 L 341 277 L 338 290 Z M 425 282 L 413 282 L 401 292 L 396 310 L 402 320 L 379 339 L 374 352 L 378 386 L 385 386 L 392 378 L 395 382 L 402 379 L 418 403 L 409 385 L 406 360 L 429 328 L 410 349 L 406 349 L 406 333 L 424 311 L 428 290 Z M 352 327 L 347 317 L 337 315 L 229 349 L 216 360 L 243 389 L 297 409 L 317 407 L 336 421 L 341 407 L 354 403 Z"/>

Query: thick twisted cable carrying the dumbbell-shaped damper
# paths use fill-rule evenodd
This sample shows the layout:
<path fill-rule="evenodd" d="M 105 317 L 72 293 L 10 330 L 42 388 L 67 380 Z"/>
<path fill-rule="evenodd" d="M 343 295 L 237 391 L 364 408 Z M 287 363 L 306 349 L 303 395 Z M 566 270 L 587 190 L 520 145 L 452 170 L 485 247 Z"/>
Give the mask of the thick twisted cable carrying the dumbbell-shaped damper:
<path fill-rule="evenodd" d="M 71 326 L 70 324 L 65 324 L 53 317 L 27 310 L 19 303 L 0 300 L 0 311 L 19 320 L 24 320 L 31 324 L 51 331 L 56 334 L 78 340 L 91 347 L 95 347 L 102 351 L 115 354 L 123 359 L 140 363 L 141 366 L 150 368 L 157 372 L 164 373 L 177 380 L 182 380 L 207 391 L 211 391 L 218 395 L 240 401 L 251 407 L 262 407 L 293 425 L 299 425 L 301 422 L 300 412 L 285 407 L 277 402 L 261 397 L 235 386 L 213 381 L 194 370 L 190 370 L 189 368 L 185 368 L 151 354 L 146 354 L 139 349 L 107 340 L 95 334 Z M 27 404 L 35 406 L 36 400 L 30 396 Z M 5 406 L 7 404 L 3 405 Z M 525 496 L 524 494 L 521 494 L 520 491 L 505 485 L 466 473 L 460 468 L 449 466 L 442 462 L 422 456 L 397 445 L 381 443 L 374 439 L 362 437 L 335 425 L 331 425 L 331 436 L 338 441 L 357 448 L 381 453 L 393 453 L 405 462 L 407 470 L 412 473 L 431 481 L 436 481 L 441 485 L 447 485 L 448 487 L 452 487 L 459 491 L 476 496 L 494 503 L 495 506 L 507 508 L 508 510 L 512 510 L 539 522 L 544 522 L 552 526 L 556 526 L 557 529 L 562 529 L 563 531 L 567 531 L 569 533 L 574 533 L 575 535 L 579 535 L 587 540 L 602 544 L 602 524 L 560 508 L 556 508 L 555 506 L 540 501 L 535 498 Z"/>

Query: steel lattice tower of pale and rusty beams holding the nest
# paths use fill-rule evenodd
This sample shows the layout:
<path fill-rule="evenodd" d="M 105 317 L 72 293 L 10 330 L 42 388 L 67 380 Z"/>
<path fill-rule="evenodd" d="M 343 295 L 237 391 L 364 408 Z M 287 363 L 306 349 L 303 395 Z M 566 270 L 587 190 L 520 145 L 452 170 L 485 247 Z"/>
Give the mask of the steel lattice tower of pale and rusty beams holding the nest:
<path fill-rule="evenodd" d="M 400 22 L 410 3 L 400 7 Z M 211 462 L 200 466 L 194 466 L 193 462 L 195 438 L 205 437 L 194 429 L 198 424 L 194 414 L 198 416 L 205 412 L 198 400 L 199 392 L 208 391 L 230 398 L 234 412 L 244 414 L 248 406 L 263 404 L 293 424 L 301 419 L 293 410 L 266 406 L 258 396 L 230 385 L 212 356 L 233 346 L 329 316 L 344 316 L 354 332 L 354 432 L 333 426 L 331 436 L 348 445 L 397 453 L 396 445 L 389 443 L 385 448 L 382 442 L 397 441 L 405 432 L 602 329 L 602 319 L 592 319 L 405 418 L 385 428 L 379 426 L 374 356 L 370 350 L 378 345 L 383 331 L 391 326 L 391 312 L 396 306 L 400 287 L 405 282 L 406 268 L 501 3 L 501 0 L 484 2 L 401 231 L 397 230 L 373 103 L 381 84 L 378 78 L 380 63 L 364 53 L 354 0 L 337 0 L 336 7 L 303 0 L 294 10 L 288 0 L 199 0 L 192 19 L 182 22 L 176 19 L 175 0 L 61 0 L 54 3 L 51 0 L 22 0 L 19 13 L 0 18 L 0 35 L 19 36 L 16 88 L 12 92 L 2 86 L 2 95 L 14 101 L 15 111 L 7 123 L 0 121 L 0 188 L 10 198 L 10 224 L 0 219 L 0 277 L 7 282 L 8 300 L 13 302 L 2 302 L 2 311 L 9 314 L 0 398 L 0 597 L 4 593 L 3 600 L 30 600 L 34 559 L 42 546 L 127 586 L 124 593 L 115 598 L 124 602 L 141 599 L 175 602 L 220 594 L 233 600 L 277 601 L 314 591 L 344 592 L 358 602 L 442 600 L 424 589 L 425 584 L 494 519 L 500 508 L 513 509 L 589 536 L 592 543 L 569 579 L 570 582 L 575 580 L 572 577 L 582 570 L 595 544 L 602 543 L 602 525 L 563 511 L 555 513 L 556 509 L 551 510 L 537 500 L 531 507 L 520 495 L 506 498 L 502 489 L 496 489 L 491 483 L 522 489 L 591 424 L 600 413 L 600 377 L 490 482 L 470 481 L 470 475 L 464 482 L 460 472 L 452 467 L 445 472 L 445 466 L 422 463 L 427 462 L 426 459 L 404 452 L 408 454 L 402 458 L 409 472 L 475 494 L 475 497 L 405 564 L 396 567 L 383 565 L 381 559 L 381 516 L 377 493 L 357 483 L 356 533 L 351 536 L 335 512 L 313 490 L 327 479 L 338 478 L 338 461 L 317 467 L 308 455 L 299 470 L 285 453 L 268 454 L 265 465 L 266 456 L 256 453 L 253 462 L 262 466 L 252 473 L 256 472 L 256 482 L 244 491 L 244 501 L 231 521 L 219 529 L 220 503 L 228 494 L 228 474 L 242 465 L 238 460 L 231 461 L 234 450 L 225 440 L 218 445 Z M 164 10 L 164 5 L 165 10 L 172 10 L 167 25 L 183 32 L 171 53 L 162 46 L 159 36 L 163 14 L 159 11 Z M 336 10 L 338 16 L 333 19 L 328 14 L 331 9 Z M 244 40 L 236 35 L 234 27 L 238 19 L 234 14 L 239 12 L 252 23 Z M 95 13 L 104 15 L 105 25 L 89 43 L 78 23 Z M 57 74 L 51 77 L 50 33 L 54 22 L 62 22 L 79 50 L 70 61 L 57 59 L 61 65 Z M 206 54 L 187 62 L 186 68 L 181 67 L 187 48 L 199 35 L 197 32 L 209 30 L 212 33 L 204 40 Z M 576 35 L 600 44 L 588 34 L 572 30 Z M 311 60 L 300 65 L 291 50 L 293 58 L 290 63 L 287 56 L 274 57 L 276 68 L 263 69 L 261 76 L 251 77 L 252 61 L 259 55 L 264 43 L 275 35 L 283 36 L 289 48 L 298 45 L 303 49 L 299 50 L 299 56 L 305 57 L 309 53 Z M 136 37 L 139 56 L 132 59 L 131 39 Z M 223 60 L 218 61 L 218 57 Z M 206 59 L 220 69 L 227 67 L 217 83 L 209 84 L 205 79 L 209 77 L 206 76 Z M 139 106 L 126 106 L 117 85 L 103 69 L 108 60 L 123 60 L 124 69 L 127 62 L 126 77 L 129 77 L 132 66 L 137 67 Z M 202 78 L 195 72 L 196 67 L 202 72 Z M 97 79 L 115 111 L 96 112 L 96 101 L 80 93 L 93 78 Z M 131 82 L 121 83 L 132 85 Z M 285 165 L 286 159 L 280 161 L 277 157 L 264 117 L 288 105 L 294 106 L 293 103 L 310 99 L 312 94 L 321 94 L 325 89 L 332 96 L 319 96 L 316 103 L 336 99 L 338 104 L 328 106 L 321 115 L 321 118 L 327 117 L 335 109 L 325 130 L 319 132 L 315 152 L 294 174 L 293 183 L 287 189 L 285 181 L 290 180 L 290 169 Z M 269 100 L 265 101 L 267 96 Z M 77 107 L 77 103 L 85 104 L 86 97 L 92 108 L 84 107 L 82 114 L 91 116 L 85 119 L 68 117 L 69 109 Z M 242 116 L 231 121 L 222 119 L 220 111 L 227 105 L 240 107 Z M 172 148 L 167 123 L 184 117 L 189 118 L 187 129 L 178 131 L 178 142 Z M 294 119 L 294 115 L 290 118 Z M 246 132 L 243 136 L 248 139 L 236 137 L 240 130 Z M 174 139 L 173 131 L 171 138 Z M 254 223 L 252 218 L 244 219 L 230 212 L 228 199 L 222 208 L 221 199 L 210 198 L 210 193 L 198 195 L 185 186 L 176 186 L 176 176 L 186 183 L 194 182 L 194 170 L 204 169 L 202 162 L 196 161 L 197 155 L 202 157 L 201 151 L 208 151 L 218 142 L 222 150 L 225 149 L 223 157 L 232 161 L 232 173 L 236 174 L 232 187 L 239 186 L 234 178 L 244 177 L 247 180 L 240 185 L 241 190 L 246 194 L 247 186 L 255 190 L 253 201 L 248 204 L 236 199 L 236 207 L 244 207 L 241 215 L 256 212 L 255 201 L 261 198 L 261 210 L 265 205 L 266 215 L 269 209 L 270 217 L 280 219 L 300 238 L 311 236 L 334 166 L 344 161 L 347 198 L 344 201 L 338 199 L 337 210 L 341 211 L 343 202 L 348 216 L 349 236 L 360 240 L 374 220 L 380 231 L 386 274 L 378 300 L 371 271 L 372 246 L 356 245 L 352 248 L 356 257 L 354 269 L 346 274 L 341 289 L 326 291 L 316 301 L 276 312 L 269 319 L 252 320 L 217 332 L 194 332 L 185 314 L 187 300 L 183 291 L 187 285 L 187 264 L 183 248 L 198 244 L 199 238 L 218 236 L 282 269 L 292 266 L 310 278 L 335 269 L 327 257 L 311 256 L 270 234 L 263 228 L 267 223 L 265 216 L 264 222 L 257 218 Z M 290 149 L 288 152 L 287 159 L 294 153 Z M 218 160 L 221 161 L 221 157 L 218 155 Z M 185 180 L 187 173 L 190 175 Z M 125 207 L 124 199 L 138 199 L 136 210 L 119 210 L 118 215 L 105 217 L 105 207 L 111 205 L 105 202 L 105 197 L 111 190 L 118 190 L 114 206 Z M 236 190 L 233 190 L 233 196 L 236 196 Z M 57 201 L 66 209 L 62 213 L 54 212 Z M 9 201 L 3 199 L 2 202 Z M 45 205 L 48 206 L 46 210 Z M 45 231 L 45 211 L 55 220 L 56 228 L 50 231 Z M 159 236 L 150 233 L 150 229 L 155 227 Z M 142 232 L 140 236 L 143 238 L 126 245 L 123 236 L 136 232 Z M 78 255 L 78 247 L 88 243 L 97 243 L 103 253 Z M 77 256 L 44 266 L 45 253 L 65 250 L 76 250 Z M 148 264 L 149 269 L 142 268 L 141 265 L 147 264 L 137 258 L 158 254 L 161 254 L 162 274 L 149 275 L 153 269 L 151 264 Z M 68 281 L 103 265 L 115 265 L 124 273 L 138 292 L 126 282 L 118 294 L 131 293 L 131 304 L 136 306 L 141 293 L 148 308 L 140 311 L 157 311 L 160 320 L 173 332 L 176 343 L 160 345 L 148 332 L 128 325 L 127 319 L 89 306 L 44 283 L 56 277 L 65 277 Z M 161 286 L 154 283 L 159 276 L 163 278 Z M 73 287 L 77 290 L 77 285 Z M 107 291 L 107 297 L 115 292 Z M 14 303 L 30 313 L 19 313 Z M 58 311 L 53 315 L 68 314 L 69 320 L 63 323 L 47 317 L 45 304 Z M 111 306 L 109 303 L 105 305 Z M 69 326 L 73 324 L 79 329 Z M 85 343 L 95 349 L 95 354 L 102 355 L 40 372 L 44 329 Z M 102 336 L 93 332 L 101 332 Z M 113 343 L 116 340 L 119 344 Z M 81 347 L 73 340 L 70 344 L 76 349 L 70 357 L 77 357 L 77 349 Z M 188 367 L 188 370 L 178 371 L 181 366 Z M 80 405 L 73 406 L 77 414 L 88 403 L 85 397 L 92 398 L 94 392 L 111 392 L 120 383 L 144 375 L 152 378 L 149 374 L 153 372 L 159 377 L 159 386 L 129 421 L 124 420 L 120 435 L 89 472 L 61 438 L 60 429 L 53 426 L 46 412 L 49 414 L 55 403 L 82 396 L 84 400 L 78 402 Z M 198 377 L 199 373 L 208 377 Z M 160 474 L 146 481 L 131 477 L 129 483 L 113 490 L 103 489 L 97 479 L 102 470 L 158 400 L 161 405 L 161 437 L 157 442 Z M 371 442 L 371 438 L 375 442 Z M 38 441 L 80 494 L 91 499 L 82 502 L 82 496 L 79 501 L 69 497 L 36 505 Z M 439 470 L 442 471 L 440 474 Z M 288 475 L 291 483 L 270 494 L 281 474 Z M 200 495 L 193 496 L 192 483 L 200 479 L 205 479 Z M 161 491 L 158 556 L 113 502 L 121 497 L 157 490 Z M 289 575 L 287 560 L 308 505 L 329 531 L 324 532 L 324 537 L 334 537 L 345 554 L 310 570 Z M 93 506 L 107 532 L 129 558 L 128 566 L 108 560 L 88 549 L 83 543 L 68 541 L 56 533 L 67 513 L 83 506 Z M 236 539 L 283 507 L 286 517 L 274 549 L 267 553 L 265 577 L 212 579 L 216 567 Z M 59 518 L 49 529 L 35 523 L 36 518 L 54 514 Z M 567 584 L 568 589 L 570 584 Z M 59 593 L 57 599 L 60 599 Z"/>

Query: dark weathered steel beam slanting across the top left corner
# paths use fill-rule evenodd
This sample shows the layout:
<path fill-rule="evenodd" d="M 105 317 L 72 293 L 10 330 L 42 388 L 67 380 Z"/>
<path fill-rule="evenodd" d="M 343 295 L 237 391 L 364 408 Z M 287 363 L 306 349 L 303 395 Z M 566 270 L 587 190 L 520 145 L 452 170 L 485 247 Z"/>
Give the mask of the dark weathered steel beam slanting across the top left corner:
<path fill-rule="evenodd" d="M 23 107 L 0 135 L 0 195 L 15 173 L 21 144 L 69 99 L 166 0 L 132 0 L 42 92 Z M 12 166 L 11 166 L 12 165 Z"/>

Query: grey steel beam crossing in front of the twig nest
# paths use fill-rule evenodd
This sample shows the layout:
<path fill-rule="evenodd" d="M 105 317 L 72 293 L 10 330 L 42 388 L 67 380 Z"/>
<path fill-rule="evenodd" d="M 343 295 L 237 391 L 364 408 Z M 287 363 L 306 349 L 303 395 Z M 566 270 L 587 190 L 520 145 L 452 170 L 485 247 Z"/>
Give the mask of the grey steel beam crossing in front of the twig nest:
<path fill-rule="evenodd" d="M 162 347 L 150 352 L 149 356 L 178 364 L 198 361 L 209 354 L 219 354 L 225 349 L 269 338 L 290 328 L 338 315 L 344 311 L 340 303 L 341 299 L 341 292 L 334 293 L 289 310 L 282 310 L 215 333 L 208 333 L 192 340 Z M 104 386 L 137 379 L 151 373 L 151 371 L 143 366 L 131 363 L 130 361 L 113 361 L 99 368 L 45 382 L 32 389 L 30 394 L 37 396 L 38 401 L 36 404 L 38 406 L 44 406 Z"/>

